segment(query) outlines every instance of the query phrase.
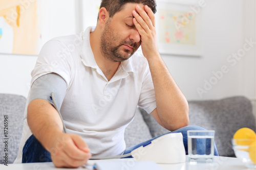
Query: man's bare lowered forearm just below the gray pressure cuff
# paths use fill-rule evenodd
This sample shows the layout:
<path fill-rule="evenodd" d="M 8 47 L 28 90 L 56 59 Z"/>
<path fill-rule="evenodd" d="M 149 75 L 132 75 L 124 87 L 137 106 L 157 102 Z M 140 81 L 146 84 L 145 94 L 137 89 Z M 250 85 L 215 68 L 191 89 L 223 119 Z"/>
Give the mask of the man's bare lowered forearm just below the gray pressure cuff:
<path fill-rule="evenodd" d="M 28 106 L 27 120 L 33 135 L 49 151 L 53 140 L 63 129 L 58 112 L 49 102 L 36 99 Z"/>

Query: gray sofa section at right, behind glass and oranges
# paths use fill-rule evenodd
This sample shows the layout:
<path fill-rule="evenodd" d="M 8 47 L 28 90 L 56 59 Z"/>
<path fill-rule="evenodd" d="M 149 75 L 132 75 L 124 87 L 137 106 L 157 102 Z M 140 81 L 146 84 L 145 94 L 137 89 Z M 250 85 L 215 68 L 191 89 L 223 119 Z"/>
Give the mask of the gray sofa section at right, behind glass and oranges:
<path fill-rule="evenodd" d="M 243 96 L 189 101 L 188 104 L 189 125 L 215 130 L 215 142 L 220 156 L 234 156 L 231 139 L 238 129 L 247 127 L 255 131 L 251 103 Z"/>

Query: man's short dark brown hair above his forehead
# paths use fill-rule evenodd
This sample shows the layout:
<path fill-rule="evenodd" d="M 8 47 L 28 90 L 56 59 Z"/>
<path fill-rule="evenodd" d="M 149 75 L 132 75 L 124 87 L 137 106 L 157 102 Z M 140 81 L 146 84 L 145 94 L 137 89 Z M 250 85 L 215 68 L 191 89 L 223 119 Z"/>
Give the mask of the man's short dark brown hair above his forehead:
<path fill-rule="evenodd" d="M 127 3 L 147 5 L 151 8 L 154 14 L 157 12 L 157 4 L 155 0 L 102 0 L 100 8 L 105 7 L 109 12 L 109 16 L 113 17 L 115 13 L 121 11 Z"/>

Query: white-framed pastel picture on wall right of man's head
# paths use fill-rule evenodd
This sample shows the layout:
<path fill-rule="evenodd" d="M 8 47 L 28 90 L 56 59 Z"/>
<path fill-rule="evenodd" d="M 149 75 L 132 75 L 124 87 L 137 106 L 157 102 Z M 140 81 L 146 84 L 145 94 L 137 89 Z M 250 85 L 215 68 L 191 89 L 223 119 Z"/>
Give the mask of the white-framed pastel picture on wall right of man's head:
<path fill-rule="evenodd" d="M 201 13 L 198 1 L 158 0 L 156 29 L 160 54 L 202 54 Z"/>

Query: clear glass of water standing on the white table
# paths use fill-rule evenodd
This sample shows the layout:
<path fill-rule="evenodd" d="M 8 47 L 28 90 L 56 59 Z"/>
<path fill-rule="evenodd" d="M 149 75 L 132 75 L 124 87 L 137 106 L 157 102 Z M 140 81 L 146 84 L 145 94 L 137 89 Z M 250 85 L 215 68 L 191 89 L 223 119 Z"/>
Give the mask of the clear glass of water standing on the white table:
<path fill-rule="evenodd" d="M 212 162 L 214 160 L 215 131 L 188 130 L 188 158 L 190 162 Z"/>

